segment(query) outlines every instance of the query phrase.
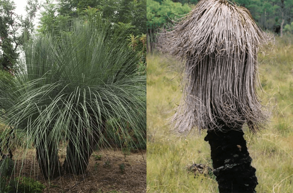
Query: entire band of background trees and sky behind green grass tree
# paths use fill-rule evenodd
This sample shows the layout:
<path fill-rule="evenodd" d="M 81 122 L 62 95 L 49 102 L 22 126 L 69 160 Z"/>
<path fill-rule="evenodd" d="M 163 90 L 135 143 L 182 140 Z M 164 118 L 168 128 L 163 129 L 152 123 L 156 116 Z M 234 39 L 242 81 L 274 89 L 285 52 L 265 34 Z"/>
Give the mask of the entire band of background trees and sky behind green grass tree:
<path fill-rule="evenodd" d="M 15 8 L 13 0 L 0 1 L 1 69 L 15 70 L 13 66 L 20 56 L 24 39 L 27 41 L 35 34 L 56 32 L 60 28 L 61 21 L 70 22 L 79 15 L 94 12 L 103 14 L 103 18 L 109 18 L 109 22 L 112 22 L 117 29 L 127 29 L 125 39 L 133 48 L 137 46 L 135 50 L 141 57 L 142 65 L 145 66 L 147 18 L 144 0 L 47 0 L 42 3 L 38 0 L 28 0 L 24 17 L 16 13 Z M 41 10 L 40 22 L 35 25 L 38 10 Z M 144 69 L 141 67 L 142 71 Z"/>

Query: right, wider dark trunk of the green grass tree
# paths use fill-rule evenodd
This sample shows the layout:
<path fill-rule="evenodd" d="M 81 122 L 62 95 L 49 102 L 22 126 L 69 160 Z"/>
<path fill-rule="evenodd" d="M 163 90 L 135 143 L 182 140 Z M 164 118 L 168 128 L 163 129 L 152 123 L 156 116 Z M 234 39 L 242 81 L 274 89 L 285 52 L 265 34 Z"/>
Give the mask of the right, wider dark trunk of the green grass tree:
<path fill-rule="evenodd" d="M 105 127 L 105 119 L 99 122 L 101 124 L 100 128 L 102 131 L 97 130 L 93 133 L 90 133 L 86 128 L 84 128 L 82 134 L 77 140 L 76 136 L 78 135 L 78 132 L 76 129 L 72 129 L 72 136 L 69 136 L 66 158 L 63 164 L 63 170 L 65 172 L 76 175 L 85 173 L 89 158 L 93 153 L 93 148 L 98 143 L 98 140 L 101 137 L 101 133 Z M 93 123 L 96 125 L 96 128 L 99 128 L 98 121 L 93 121 Z M 78 120 L 76 120 L 76 125 L 78 125 Z"/>

